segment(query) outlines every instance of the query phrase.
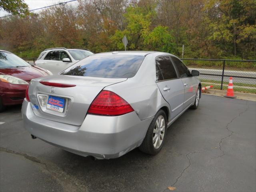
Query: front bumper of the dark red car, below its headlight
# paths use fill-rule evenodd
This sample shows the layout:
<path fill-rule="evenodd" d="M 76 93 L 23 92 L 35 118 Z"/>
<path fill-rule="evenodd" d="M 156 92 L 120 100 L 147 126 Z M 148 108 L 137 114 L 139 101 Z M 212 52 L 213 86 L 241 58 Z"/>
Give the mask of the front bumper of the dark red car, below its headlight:
<path fill-rule="evenodd" d="M 0 82 L 0 96 L 4 105 L 22 104 L 28 85 Z"/>

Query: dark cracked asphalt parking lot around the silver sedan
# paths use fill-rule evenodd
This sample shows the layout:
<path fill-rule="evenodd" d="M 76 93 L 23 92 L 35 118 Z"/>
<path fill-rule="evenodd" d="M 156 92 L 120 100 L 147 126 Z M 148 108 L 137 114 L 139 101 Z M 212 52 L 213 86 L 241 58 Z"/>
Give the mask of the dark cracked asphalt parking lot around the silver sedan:
<path fill-rule="evenodd" d="M 203 95 L 168 129 L 162 151 L 92 160 L 39 139 L 21 106 L 0 114 L 1 191 L 255 191 L 256 102 Z"/>

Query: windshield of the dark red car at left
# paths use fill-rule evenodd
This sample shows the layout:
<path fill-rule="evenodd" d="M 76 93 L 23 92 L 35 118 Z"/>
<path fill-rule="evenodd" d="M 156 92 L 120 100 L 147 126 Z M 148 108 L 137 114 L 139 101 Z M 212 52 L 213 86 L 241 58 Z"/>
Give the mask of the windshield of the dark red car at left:
<path fill-rule="evenodd" d="M 16 68 L 29 66 L 30 64 L 12 53 L 0 52 L 0 68 Z"/>

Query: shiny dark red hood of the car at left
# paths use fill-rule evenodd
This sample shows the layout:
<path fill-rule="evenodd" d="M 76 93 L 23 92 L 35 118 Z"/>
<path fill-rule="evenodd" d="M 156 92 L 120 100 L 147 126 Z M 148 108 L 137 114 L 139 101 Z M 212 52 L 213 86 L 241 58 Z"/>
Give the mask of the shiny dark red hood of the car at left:
<path fill-rule="evenodd" d="M 37 77 L 49 75 L 48 72 L 46 72 L 46 70 L 36 66 L 10 68 L 10 69 L 0 68 L 0 74 L 1 73 L 6 75 L 12 75 L 24 81 L 30 81 L 31 79 L 34 79 Z"/>

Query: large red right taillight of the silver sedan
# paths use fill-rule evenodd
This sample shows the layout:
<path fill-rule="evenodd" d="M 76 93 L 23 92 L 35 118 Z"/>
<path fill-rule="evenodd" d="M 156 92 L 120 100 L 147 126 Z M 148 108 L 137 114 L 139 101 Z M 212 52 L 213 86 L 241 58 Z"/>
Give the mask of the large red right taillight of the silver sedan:
<path fill-rule="evenodd" d="M 122 97 L 111 91 L 102 90 L 94 99 L 88 113 L 96 115 L 117 116 L 134 111 Z"/>

